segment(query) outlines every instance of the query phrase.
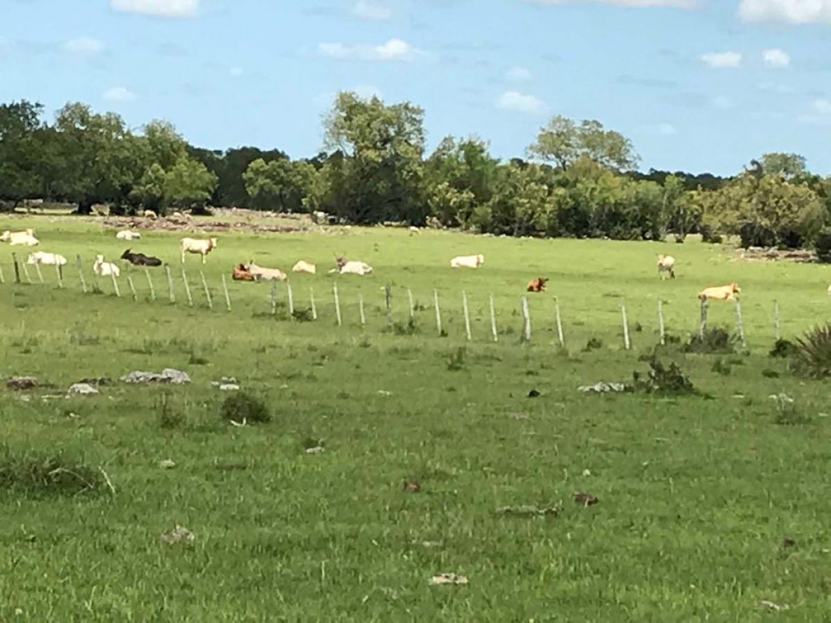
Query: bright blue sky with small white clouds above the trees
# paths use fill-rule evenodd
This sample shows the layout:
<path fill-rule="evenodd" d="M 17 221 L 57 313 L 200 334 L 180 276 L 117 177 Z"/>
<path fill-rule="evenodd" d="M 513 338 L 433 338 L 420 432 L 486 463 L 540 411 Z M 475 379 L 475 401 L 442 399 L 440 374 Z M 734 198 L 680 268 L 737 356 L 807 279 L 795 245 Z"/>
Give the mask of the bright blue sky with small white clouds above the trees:
<path fill-rule="evenodd" d="M 0 0 L 0 101 L 172 121 L 293 157 L 332 94 L 425 109 L 428 146 L 524 155 L 553 114 L 642 169 L 732 174 L 764 151 L 831 173 L 831 0 Z"/>

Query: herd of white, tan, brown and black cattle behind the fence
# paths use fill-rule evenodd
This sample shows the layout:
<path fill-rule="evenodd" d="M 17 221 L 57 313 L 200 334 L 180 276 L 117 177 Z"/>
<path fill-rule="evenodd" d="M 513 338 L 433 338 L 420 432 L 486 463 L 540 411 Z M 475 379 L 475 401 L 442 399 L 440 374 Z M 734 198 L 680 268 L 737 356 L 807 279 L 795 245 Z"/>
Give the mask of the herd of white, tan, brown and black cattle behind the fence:
<path fill-rule="evenodd" d="M 130 230 L 122 230 L 116 233 L 118 240 L 140 240 L 141 234 Z M 40 241 L 35 237 L 33 229 L 25 229 L 19 232 L 4 231 L 0 234 L 0 242 L 8 243 L 10 246 L 25 246 L 35 247 Z M 184 263 L 187 254 L 199 255 L 204 264 L 211 251 L 217 247 L 216 238 L 181 238 L 179 240 L 179 252 L 181 261 Z M 133 253 L 131 249 L 125 250 L 121 254 L 120 259 L 125 262 L 130 262 L 134 266 L 158 267 L 162 265 L 159 258 L 155 258 L 144 253 Z M 347 260 L 347 258 L 335 258 L 336 267 L 329 272 L 337 272 L 342 275 L 369 275 L 372 272 L 372 267 L 366 262 L 356 260 Z M 52 266 L 65 266 L 66 258 L 57 253 L 47 253 L 38 251 L 30 253 L 27 258 L 28 264 L 44 264 Z M 460 255 L 450 260 L 451 268 L 479 268 L 484 264 L 484 255 Z M 658 256 L 658 276 L 661 279 L 669 277 L 675 278 L 676 260 L 671 255 Z M 96 275 L 108 277 L 120 275 L 120 268 L 114 262 L 107 262 L 103 255 L 96 255 L 96 260 L 92 264 L 92 270 Z M 316 274 L 317 267 L 312 262 L 306 260 L 298 260 L 292 267 L 292 272 L 306 272 L 309 274 Z M 251 260 L 248 263 L 238 263 L 234 266 L 231 277 L 235 281 L 243 282 L 257 282 L 257 281 L 285 281 L 288 275 L 279 268 L 267 268 L 258 266 Z M 545 277 L 537 277 L 528 282 L 526 287 L 528 292 L 545 292 L 545 285 L 548 279 Z M 701 301 L 708 299 L 716 301 L 732 301 L 735 296 L 741 292 L 739 284 L 730 282 L 725 286 L 706 287 L 699 292 L 698 297 Z M 831 293 L 831 287 L 829 287 Z"/>

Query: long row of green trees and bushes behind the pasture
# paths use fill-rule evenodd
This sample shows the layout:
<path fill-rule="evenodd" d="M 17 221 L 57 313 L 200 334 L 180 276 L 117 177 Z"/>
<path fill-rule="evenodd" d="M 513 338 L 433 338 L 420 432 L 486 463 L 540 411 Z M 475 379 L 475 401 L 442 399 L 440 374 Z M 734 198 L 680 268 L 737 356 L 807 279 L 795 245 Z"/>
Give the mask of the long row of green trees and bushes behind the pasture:
<path fill-rule="evenodd" d="M 406 222 L 509 236 L 679 242 L 739 235 L 745 246 L 796 248 L 829 239 L 831 177 L 802 156 L 769 153 L 739 173 L 637 170 L 632 142 L 596 120 L 554 116 L 524 158 L 501 161 L 477 137 L 446 137 L 427 154 L 424 110 L 339 93 L 321 153 L 204 150 L 173 125 L 130 130 L 119 115 L 69 103 L 0 105 L 0 209 L 24 199 L 90 213 L 208 206 L 322 211 L 350 223 Z"/>

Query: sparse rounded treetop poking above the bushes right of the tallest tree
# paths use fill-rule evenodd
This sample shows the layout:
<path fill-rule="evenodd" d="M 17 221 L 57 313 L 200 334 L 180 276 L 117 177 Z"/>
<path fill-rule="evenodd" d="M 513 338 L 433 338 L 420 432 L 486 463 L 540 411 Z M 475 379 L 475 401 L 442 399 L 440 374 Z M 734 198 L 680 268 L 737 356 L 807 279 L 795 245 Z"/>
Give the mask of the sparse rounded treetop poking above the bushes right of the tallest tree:
<path fill-rule="evenodd" d="M 529 156 L 553 162 L 560 169 L 576 162 L 581 156 L 593 159 L 609 169 L 634 169 L 639 160 L 632 141 L 613 130 L 606 130 L 599 121 L 575 121 L 555 115 L 539 130 L 537 140 L 528 148 Z"/>

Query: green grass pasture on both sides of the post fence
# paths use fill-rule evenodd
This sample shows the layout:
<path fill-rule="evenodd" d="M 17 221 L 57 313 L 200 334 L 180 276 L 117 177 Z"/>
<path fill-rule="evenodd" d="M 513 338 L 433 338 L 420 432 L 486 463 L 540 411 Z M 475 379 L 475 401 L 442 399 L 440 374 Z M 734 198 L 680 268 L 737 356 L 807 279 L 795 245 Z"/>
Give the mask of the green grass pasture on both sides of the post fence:
<path fill-rule="evenodd" d="M 71 264 L 63 289 L 47 268 L 47 284 L 14 285 L 11 249 L 0 247 L 0 372 L 57 385 L 0 390 L 2 621 L 831 620 L 831 505 L 822 493 L 829 386 L 768 356 L 774 299 L 784 337 L 827 319 L 824 267 L 743 262 L 701 243 L 385 228 L 220 234 L 204 267 L 211 312 L 195 257 L 186 264 L 194 307 L 184 301 L 180 233 L 123 244 L 91 220 L 0 219 L 0 229 L 10 226 L 35 228 L 39 250 Z M 81 292 L 75 255 L 92 282 L 95 254 L 115 260 L 126 246 L 170 262 L 175 304 L 161 269 L 156 302 L 143 272 L 131 273 L 139 302 L 125 273 L 121 298 L 104 279 L 102 293 Z M 326 274 L 332 253 L 375 267 L 371 277 L 337 277 L 341 327 Z M 460 253 L 484 253 L 484 267 L 451 270 Z M 674 281 L 658 279 L 656 253 L 677 258 Z M 299 258 L 317 262 L 322 274 L 292 283 L 297 308 L 314 288 L 318 320 L 288 320 L 283 284 L 277 316 L 259 283 L 229 282 L 226 312 L 219 275 L 250 258 L 283 270 Z M 538 276 L 550 277 L 549 292 L 529 295 L 532 341 L 521 344 L 519 297 Z M 686 339 L 698 321 L 696 292 L 732 280 L 742 287 L 748 352 L 668 355 L 706 396 L 578 392 L 648 369 L 639 356 L 656 344 L 659 297 L 668 331 Z M 446 336 L 435 330 L 434 288 Z M 567 352 L 557 346 L 554 295 Z M 622 297 L 632 351 L 622 349 Z M 734 323 L 730 303 L 711 306 L 711 326 Z M 583 351 L 593 337 L 602 347 Z M 82 377 L 165 367 L 193 382 L 42 399 Z M 222 419 L 227 395 L 211 386 L 222 376 L 262 396 L 273 420 Z M 781 417 L 769 398 L 779 392 L 794 398 L 789 413 L 799 417 Z M 323 451 L 307 453 L 312 441 Z M 66 491 L 19 485 L 20 474 L 56 458 L 88 468 L 81 475 L 96 487 L 76 493 L 66 474 Z M 164 459 L 175 467 L 161 468 Z M 402 490 L 405 481 L 420 491 Z M 575 492 L 599 503 L 580 506 Z M 497 513 L 526 505 L 560 510 Z M 176 523 L 193 543 L 160 542 Z M 441 572 L 470 581 L 430 586 Z"/>

